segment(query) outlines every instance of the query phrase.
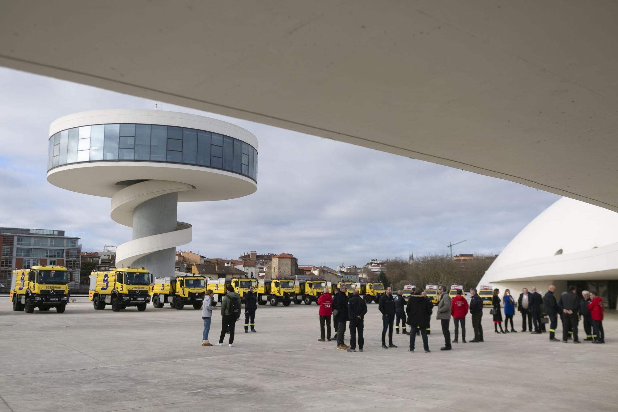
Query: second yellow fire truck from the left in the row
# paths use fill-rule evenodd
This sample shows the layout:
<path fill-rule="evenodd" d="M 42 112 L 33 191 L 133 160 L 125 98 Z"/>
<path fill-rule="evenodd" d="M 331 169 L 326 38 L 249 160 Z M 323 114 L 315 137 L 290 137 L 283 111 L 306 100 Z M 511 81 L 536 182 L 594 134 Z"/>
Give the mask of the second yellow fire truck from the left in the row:
<path fill-rule="evenodd" d="M 153 275 L 145 268 L 114 268 L 90 274 L 88 300 L 97 310 L 111 305 L 118 312 L 128 306 L 137 306 L 143 312 L 150 303 L 150 283 Z"/>

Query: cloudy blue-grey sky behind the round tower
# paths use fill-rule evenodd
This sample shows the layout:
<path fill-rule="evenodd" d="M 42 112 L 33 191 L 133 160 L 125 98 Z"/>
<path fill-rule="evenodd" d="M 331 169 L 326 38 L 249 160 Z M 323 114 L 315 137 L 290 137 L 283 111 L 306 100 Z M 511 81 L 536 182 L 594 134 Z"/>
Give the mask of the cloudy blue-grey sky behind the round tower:
<path fill-rule="evenodd" d="M 66 230 L 83 251 L 130 240 L 109 199 L 45 179 L 49 124 L 93 109 L 154 109 L 155 101 L 0 68 L 0 226 Z M 292 253 L 299 264 L 362 265 L 415 254 L 499 253 L 559 196 L 425 161 L 163 103 L 244 127 L 259 142 L 258 191 L 182 203 L 193 225 L 183 250 L 237 258 Z"/>

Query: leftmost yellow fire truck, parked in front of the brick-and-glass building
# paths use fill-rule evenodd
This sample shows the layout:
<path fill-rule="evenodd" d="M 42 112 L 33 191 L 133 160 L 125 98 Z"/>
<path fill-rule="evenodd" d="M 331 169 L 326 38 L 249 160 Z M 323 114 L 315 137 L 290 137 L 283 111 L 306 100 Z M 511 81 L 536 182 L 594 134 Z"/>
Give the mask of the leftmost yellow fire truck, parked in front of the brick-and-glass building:
<path fill-rule="evenodd" d="M 69 303 L 67 268 L 62 266 L 33 266 L 29 269 L 15 269 L 11 275 L 9 301 L 14 311 L 32 313 L 49 311 L 55 307 L 62 313 Z"/>

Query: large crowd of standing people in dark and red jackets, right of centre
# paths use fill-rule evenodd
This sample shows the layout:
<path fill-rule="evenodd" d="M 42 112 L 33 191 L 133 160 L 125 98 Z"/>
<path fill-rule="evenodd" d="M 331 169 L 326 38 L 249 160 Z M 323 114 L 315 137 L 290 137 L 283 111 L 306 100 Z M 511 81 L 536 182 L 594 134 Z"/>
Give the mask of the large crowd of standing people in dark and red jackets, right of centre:
<path fill-rule="evenodd" d="M 544 315 L 547 314 L 549 320 L 549 340 L 559 341 L 555 338 L 557 319 L 560 317 L 563 325 L 562 341 L 565 343 L 572 339 L 574 343 L 579 343 L 577 335 L 577 325 L 579 317 L 584 320 L 584 328 L 586 330 L 586 339 L 593 343 L 604 343 L 603 332 L 603 301 L 594 292 L 583 291 L 583 299 L 577 295 L 575 286 L 569 287 L 569 293 L 565 292 L 559 301 L 554 298 L 556 286 L 549 286 L 548 293 L 541 296 L 536 291 L 536 288 L 531 288 L 531 293 L 528 293 L 526 288 L 523 289 L 519 299 L 515 301 L 509 290 L 505 290 L 502 298 L 500 298 L 498 289 L 494 290 L 491 314 L 494 321 L 494 332 L 496 333 L 517 333 L 513 318 L 515 309 L 522 313 L 522 332 L 528 330 L 531 333 L 543 333 Z M 446 286 L 442 285 L 438 288 L 439 301 L 436 306 L 436 319 L 440 321 L 442 334 L 444 335 L 444 346 L 440 348 L 442 351 L 452 349 L 452 343 L 459 343 L 459 332 L 461 331 L 462 343 L 467 343 L 465 318 L 468 313 L 472 317 L 472 328 L 474 330 L 474 338 L 471 343 L 483 342 L 483 327 L 481 320 L 483 318 L 483 299 L 478 296 L 476 288 L 470 289 L 470 303 L 465 299 L 462 290 L 458 290 L 454 298 L 447 293 Z M 348 298 L 345 285 L 341 286 L 341 290 L 336 290 L 334 297 L 324 289 L 324 293 L 318 298 L 320 304 L 320 339 L 318 341 L 331 340 L 331 317 L 334 322 L 337 338 L 337 349 L 355 352 L 363 351 L 363 330 L 364 319 L 367 313 L 365 301 L 360 298 L 358 290 L 354 290 L 352 297 Z M 502 318 L 502 304 L 504 304 L 504 319 Z M 386 288 L 386 294 L 381 296 L 378 304 L 378 309 L 382 314 L 382 348 L 397 348 L 392 341 L 393 328 L 397 333 L 401 332 L 404 335 L 410 336 L 409 352 L 415 350 L 415 341 L 417 335 L 420 335 L 423 341 L 423 350 L 431 352 L 428 345 L 427 335 L 431 333 L 431 316 L 433 314 L 433 303 L 421 288 L 415 288 L 413 294 L 408 298 L 407 304 L 402 296 L 402 291 L 398 291 L 393 296 L 392 288 Z M 455 336 L 451 341 L 450 323 L 451 317 L 454 319 Z M 395 324 L 396 320 L 396 325 Z M 345 345 L 344 337 L 346 324 L 349 322 L 350 328 L 350 345 Z M 505 323 L 504 329 L 502 322 Z M 401 324 L 401 326 L 400 326 Z M 509 330 L 510 324 L 510 330 Z M 324 327 L 326 325 L 326 328 Z M 408 325 L 410 332 L 407 331 Z M 533 328 L 534 325 L 534 328 Z M 388 343 L 386 337 L 388 336 Z"/>

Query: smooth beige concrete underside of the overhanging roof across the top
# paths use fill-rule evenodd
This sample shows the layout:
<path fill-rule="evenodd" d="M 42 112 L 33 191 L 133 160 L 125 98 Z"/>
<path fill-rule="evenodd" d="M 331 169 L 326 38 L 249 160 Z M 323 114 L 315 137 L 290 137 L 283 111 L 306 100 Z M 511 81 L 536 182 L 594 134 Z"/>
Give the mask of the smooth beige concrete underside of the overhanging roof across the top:
<path fill-rule="evenodd" d="M 0 65 L 618 211 L 618 2 L 5 1 Z"/>

